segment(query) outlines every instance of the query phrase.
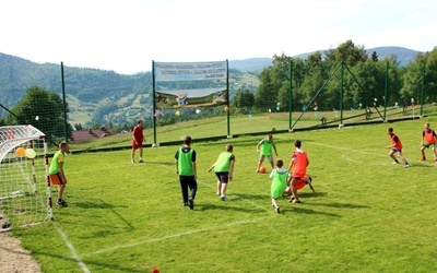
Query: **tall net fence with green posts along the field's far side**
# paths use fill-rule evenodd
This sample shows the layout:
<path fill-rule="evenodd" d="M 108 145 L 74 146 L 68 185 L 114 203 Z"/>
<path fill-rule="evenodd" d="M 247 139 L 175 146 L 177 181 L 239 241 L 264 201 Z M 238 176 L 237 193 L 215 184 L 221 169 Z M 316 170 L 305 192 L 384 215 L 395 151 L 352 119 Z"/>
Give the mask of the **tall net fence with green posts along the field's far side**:
<path fill-rule="evenodd" d="M 152 134 L 155 119 L 158 142 L 174 142 L 187 134 L 193 139 L 222 138 L 437 112 L 432 66 L 293 60 L 291 66 L 274 63 L 260 73 L 229 69 L 228 91 L 211 93 L 214 104 L 202 107 L 196 106 L 193 97 L 188 97 L 188 106 L 181 106 L 179 93 L 216 87 L 213 81 L 158 86 L 161 95 L 172 90 L 176 97 L 167 103 L 167 97 L 157 96 L 154 102 L 149 72 L 119 75 L 62 68 L 0 61 L 0 124 L 32 124 L 45 132 L 55 149 L 61 140 L 82 143 L 122 133 L 129 139 L 138 119 L 144 120 L 145 134 Z M 221 93 L 228 96 L 228 109 L 220 100 Z M 147 136 L 149 143 L 151 139 Z"/>

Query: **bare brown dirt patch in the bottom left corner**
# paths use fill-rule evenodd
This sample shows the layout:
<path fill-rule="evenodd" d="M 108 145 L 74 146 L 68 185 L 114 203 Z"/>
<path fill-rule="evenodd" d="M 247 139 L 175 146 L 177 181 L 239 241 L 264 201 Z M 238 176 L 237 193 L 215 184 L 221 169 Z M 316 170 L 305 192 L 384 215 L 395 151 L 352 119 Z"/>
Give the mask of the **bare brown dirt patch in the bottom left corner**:
<path fill-rule="evenodd" d="M 38 273 L 39 264 L 21 241 L 9 233 L 0 233 L 0 273 Z"/>

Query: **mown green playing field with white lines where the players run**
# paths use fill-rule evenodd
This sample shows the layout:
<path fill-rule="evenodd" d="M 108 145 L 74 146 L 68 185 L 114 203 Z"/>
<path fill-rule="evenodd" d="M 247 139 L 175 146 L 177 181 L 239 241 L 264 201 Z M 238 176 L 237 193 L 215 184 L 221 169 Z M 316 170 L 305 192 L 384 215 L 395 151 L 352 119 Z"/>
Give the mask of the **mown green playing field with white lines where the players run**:
<path fill-rule="evenodd" d="M 437 164 L 429 151 L 420 161 L 425 122 L 437 127 L 429 117 L 274 134 L 285 164 L 294 140 L 303 141 L 317 191 L 304 188 L 300 204 L 280 199 L 281 214 L 270 203 L 269 176 L 255 173 L 262 136 L 194 138 L 193 211 L 181 205 L 178 146 L 146 149 L 145 163 L 135 165 L 129 150 L 73 153 L 66 162 L 69 207 L 13 235 L 44 272 L 436 272 Z M 213 130 L 205 126 L 172 133 Z M 412 167 L 392 165 L 388 127 Z M 205 170 L 226 143 L 234 144 L 236 170 L 221 201 Z"/>

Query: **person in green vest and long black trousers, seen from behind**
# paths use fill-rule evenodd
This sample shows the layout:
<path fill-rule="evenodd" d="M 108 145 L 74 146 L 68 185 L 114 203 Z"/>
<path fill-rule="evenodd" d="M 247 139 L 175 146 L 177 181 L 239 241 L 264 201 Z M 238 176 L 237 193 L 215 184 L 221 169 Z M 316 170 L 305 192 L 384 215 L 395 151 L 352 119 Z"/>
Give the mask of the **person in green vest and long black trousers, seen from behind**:
<path fill-rule="evenodd" d="M 180 189 L 182 192 L 182 204 L 194 209 L 194 198 L 198 190 L 198 175 L 196 168 L 196 151 L 191 149 L 192 140 L 190 136 L 184 139 L 181 146 L 175 154 L 176 174 L 179 175 Z M 190 194 L 188 195 L 188 189 Z"/>

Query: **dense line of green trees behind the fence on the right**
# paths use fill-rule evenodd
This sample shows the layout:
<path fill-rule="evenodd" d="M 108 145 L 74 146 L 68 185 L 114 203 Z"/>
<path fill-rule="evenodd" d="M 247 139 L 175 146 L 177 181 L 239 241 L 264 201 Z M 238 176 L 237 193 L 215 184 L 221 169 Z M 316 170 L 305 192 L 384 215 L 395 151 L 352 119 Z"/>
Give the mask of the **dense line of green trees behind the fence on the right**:
<path fill-rule="evenodd" d="M 379 59 L 374 51 L 369 57 L 364 46 L 346 40 L 305 60 L 284 54 L 274 56 L 272 66 L 261 71 L 259 80 L 261 84 L 255 94 L 237 91 L 232 102 L 234 111 L 299 111 L 307 106 L 332 110 L 383 103 L 433 103 L 437 102 L 437 47 L 417 54 L 413 62 L 400 67 L 394 55 Z"/>

